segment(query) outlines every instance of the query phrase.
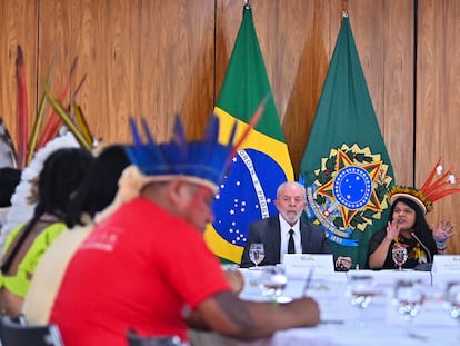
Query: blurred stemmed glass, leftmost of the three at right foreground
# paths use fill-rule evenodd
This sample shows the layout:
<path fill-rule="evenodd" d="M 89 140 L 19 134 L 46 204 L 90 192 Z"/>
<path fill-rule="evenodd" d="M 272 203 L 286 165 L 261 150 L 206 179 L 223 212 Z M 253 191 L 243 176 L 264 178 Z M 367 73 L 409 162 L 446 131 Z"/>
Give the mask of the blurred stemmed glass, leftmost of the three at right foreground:
<path fill-rule="evenodd" d="M 350 299 L 351 306 L 358 309 L 358 325 L 366 327 L 366 322 L 362 318 L 363 312 L 372 303 L 378 290 L 373 283 L 372 276 L 369 275 L 352 275 L 347 283 L 347 296 Z"/>

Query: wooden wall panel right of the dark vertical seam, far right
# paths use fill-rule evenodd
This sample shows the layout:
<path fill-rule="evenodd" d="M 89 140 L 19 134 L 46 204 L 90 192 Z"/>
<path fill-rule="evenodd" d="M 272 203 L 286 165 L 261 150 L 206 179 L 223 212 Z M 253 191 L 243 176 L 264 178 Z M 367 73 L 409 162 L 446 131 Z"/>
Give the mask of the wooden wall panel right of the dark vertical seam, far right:
<path fill-rule="evenodd" d="M 417 185 L 422 184 L 438 158 L 460 175 L 460 2 L 419 0 L 417 55 Z M 460 194 L 436 205 L 429 220 L 450 219 L 459 233 L 448 243 L 460 254 Z"/>

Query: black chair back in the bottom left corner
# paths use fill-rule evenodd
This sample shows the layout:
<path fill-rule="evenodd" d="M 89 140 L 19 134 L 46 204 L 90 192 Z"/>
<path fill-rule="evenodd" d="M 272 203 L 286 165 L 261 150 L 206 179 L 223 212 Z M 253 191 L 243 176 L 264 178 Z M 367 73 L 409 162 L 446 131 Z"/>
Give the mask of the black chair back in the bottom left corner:
<path fill-rule="evenodd" d="M 3 316 L 0 322 L 1 346 L 64 346 L 57 325 L 24 325 L 24 319 Z"/>

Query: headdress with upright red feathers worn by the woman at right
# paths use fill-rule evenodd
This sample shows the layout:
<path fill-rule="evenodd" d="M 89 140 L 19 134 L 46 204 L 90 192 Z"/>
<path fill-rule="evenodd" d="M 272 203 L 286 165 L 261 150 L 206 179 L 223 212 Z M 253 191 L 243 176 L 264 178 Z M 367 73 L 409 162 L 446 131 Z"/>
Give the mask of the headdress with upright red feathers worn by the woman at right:
<path fill-rule="evenodd" d="M 439 176 L 434 179 L 436 176 Z M 460 188 L 452 187 L 457 182 L 452 168 L 443 172 L 441 159 L 438 160 L 424 184 L 419 188 L 407 186 L 393 186 L 388 192 L 388 198 L 393 204 L 398 198 L 408 198 L 414 201 L 423 214 L 433 209 L 433 202 L 452 194 L 460 192 Z"/>

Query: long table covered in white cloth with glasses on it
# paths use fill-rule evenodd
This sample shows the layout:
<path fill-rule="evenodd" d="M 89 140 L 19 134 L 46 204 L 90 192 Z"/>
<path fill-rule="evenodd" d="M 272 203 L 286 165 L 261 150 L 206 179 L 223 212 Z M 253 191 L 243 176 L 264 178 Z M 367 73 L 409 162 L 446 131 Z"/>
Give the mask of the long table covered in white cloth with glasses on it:
<path fill-rule="evenodd" d="M 260 285 L 263 270 L 239 269 L 244 276 L 242 299 L 263 301 Z M 281 298 L 302 295 L 317 299 L 321 323 L 312 328 L 278 332 L 256 342 L 241 342 L 216 333 L 190 330 L 193 346 L 351 346 L 351 345 L 460 345 L 460 324 L 448 313 L 444 300 L 449 283 L 460 281 L 459 273 L 436 274 L 416 270 L 350 270 L 316 273 L 310 277 L 289 276 Z M 376 295 L 364 308 L 351 304 L 350 283 L 357 277 L 371 279 Z M 398 312 L 398 283 L 414 283 L 422 291 L 422 304 L 413 318 Z M 307 285 L 306 285 L 307 284 Z"/>

